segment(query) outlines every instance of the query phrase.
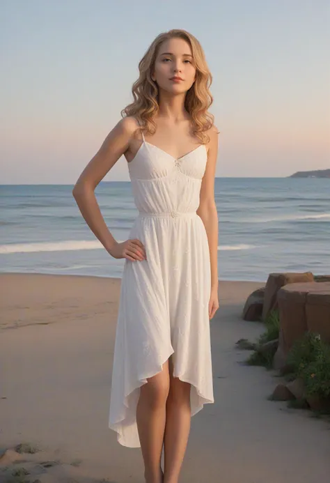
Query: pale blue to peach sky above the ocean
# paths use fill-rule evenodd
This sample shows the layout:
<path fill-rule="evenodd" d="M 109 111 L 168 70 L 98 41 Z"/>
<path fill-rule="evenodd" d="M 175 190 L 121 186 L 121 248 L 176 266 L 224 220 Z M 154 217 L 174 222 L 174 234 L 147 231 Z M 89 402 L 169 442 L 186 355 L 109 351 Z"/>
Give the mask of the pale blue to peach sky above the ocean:
<path fill-rule="evenodd" d="M 217 176 L 330 168 L 328 0 L 1 0 L 0 184 L 74 184 L 162 31 L 200 40 Z M 128 181 L 120 158 L 103 181 Z"/>

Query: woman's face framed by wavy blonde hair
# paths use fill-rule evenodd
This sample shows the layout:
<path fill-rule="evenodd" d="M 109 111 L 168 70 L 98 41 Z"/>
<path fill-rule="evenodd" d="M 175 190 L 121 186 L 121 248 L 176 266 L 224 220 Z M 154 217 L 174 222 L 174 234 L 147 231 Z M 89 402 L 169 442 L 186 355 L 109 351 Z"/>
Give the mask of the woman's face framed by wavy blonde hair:
<path fill-rule="evenodd" d="M 173 94 L 185 93 L 194 84 L 195 74 L 195 62 L 186 40 L 171 38 L 160 45 L 151 76 L 160 89 Z"/>

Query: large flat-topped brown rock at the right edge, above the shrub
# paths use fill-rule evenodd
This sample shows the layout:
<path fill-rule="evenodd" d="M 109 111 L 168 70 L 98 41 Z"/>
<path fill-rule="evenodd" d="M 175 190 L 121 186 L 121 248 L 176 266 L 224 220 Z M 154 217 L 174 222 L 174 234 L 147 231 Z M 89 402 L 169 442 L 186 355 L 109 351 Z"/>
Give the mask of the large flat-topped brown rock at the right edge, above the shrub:
<path fill-rule="evenodd" d="M 290 348 L 309 329 L 307 319 L 310 321 L 310 327 L 313 327 L 311 330 L 322 332 L 324 339 L 327 339 L 328 335 L 330 337 L 328 292 L 330 294 L 330 282 L 292 283 L 278 290 L 280 333 L 278 349 L 274 356 L 275 369 L 281 369 L 285 365 Z"/>

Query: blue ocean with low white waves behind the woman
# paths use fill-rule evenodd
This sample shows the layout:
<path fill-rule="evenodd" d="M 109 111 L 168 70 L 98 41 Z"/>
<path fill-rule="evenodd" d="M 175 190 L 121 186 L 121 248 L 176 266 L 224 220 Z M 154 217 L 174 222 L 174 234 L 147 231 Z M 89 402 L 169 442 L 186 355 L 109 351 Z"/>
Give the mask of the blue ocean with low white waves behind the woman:
<path fill-rule="evenodd" d="M 89 229 L 72 185 L 0 185 L 0 271 L 121 277 Z M 128 182 L 95 195 L 113 236 L 126 240 L 137 210 Z M 266 281 L 272 272 L 330 274 L 330 180 L 216 178 L 221 280 Z M 139 262 L 136 262 L 139 263 Z"/>

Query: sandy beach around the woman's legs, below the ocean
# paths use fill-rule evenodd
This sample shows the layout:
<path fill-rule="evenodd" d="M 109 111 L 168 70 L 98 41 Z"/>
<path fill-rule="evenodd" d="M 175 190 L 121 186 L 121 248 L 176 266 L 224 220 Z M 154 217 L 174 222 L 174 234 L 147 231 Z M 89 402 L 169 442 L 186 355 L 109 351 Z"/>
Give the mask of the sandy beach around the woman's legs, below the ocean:
<path fill-rule="evenodd" d="M 120 279 L 8 273 L 0 282 L 0 450 L 41 450 L 13 465 L 8 453 L 0 481 L 24 466 L 31 483 L 143 483 L 141 450 L 119 445 L 108 428 Z M 263 285 L 219 283 L 215 403 L 191 420 L 180 483 L 329 482 L 329 421 L 269 401 L 281 378 L 245 365 L 250 352 L 235 348 L 264 331 L 241 318 L 246 297 Z"/>

